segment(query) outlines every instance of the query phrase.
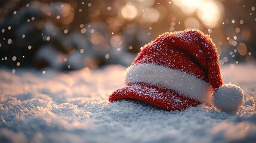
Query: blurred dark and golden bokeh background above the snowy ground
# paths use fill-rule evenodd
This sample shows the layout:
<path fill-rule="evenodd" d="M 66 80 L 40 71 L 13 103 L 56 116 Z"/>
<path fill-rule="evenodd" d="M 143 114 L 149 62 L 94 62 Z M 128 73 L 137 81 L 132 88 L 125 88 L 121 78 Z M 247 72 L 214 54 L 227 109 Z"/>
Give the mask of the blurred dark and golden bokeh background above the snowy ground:
<path fill-rule="evenodd" d="M 252 0 L 1 0 L 0 64 L 14 72 L 129 66 L 158 35 L 195 28 L 232 70 L 255 61 L 255 7 Z"/>

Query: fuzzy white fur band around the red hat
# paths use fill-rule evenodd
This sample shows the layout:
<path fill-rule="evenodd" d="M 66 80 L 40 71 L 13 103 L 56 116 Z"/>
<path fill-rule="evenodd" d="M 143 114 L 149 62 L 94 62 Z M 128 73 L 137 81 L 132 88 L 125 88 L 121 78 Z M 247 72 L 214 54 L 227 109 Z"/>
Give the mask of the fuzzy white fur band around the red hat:
<path fill-rule="evenodd" d="M 127 70 L 127 83 L 143 82 L 173 89 L 185 97 L 211 105 L 212 89 L 209 83 L 188 73 L 155 64 L 138 64 Z"/>

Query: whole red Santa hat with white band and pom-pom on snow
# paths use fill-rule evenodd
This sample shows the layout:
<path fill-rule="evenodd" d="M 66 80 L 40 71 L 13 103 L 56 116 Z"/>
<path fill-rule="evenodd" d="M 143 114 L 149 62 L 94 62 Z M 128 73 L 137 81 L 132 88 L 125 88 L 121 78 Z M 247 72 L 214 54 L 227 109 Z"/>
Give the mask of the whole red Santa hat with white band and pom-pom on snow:
<path fill-rule="evenodd" d="M 130 98 L 165 110 L 184 110 L 198 104 L 237 111 L 244 92 L 223 84 L 215 44 L 199 30 L 164 33 L 144 45 L 127 69 L 127 86 L 109 101 Z"/>

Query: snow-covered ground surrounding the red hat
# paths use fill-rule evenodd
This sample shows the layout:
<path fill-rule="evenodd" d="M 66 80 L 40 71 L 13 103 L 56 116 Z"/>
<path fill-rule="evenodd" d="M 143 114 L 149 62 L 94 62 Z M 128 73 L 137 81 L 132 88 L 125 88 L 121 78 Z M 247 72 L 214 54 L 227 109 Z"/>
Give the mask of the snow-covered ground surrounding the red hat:
<path fill-rule="evenodd" d="M 256 65 L 222 67 L 245 91 L 237 113 L 199 105 L 164 111 L 144 102 L 108 102 L 125 85 L 125 67 L 0 70 L 0 142 L 254 142 Z"/>

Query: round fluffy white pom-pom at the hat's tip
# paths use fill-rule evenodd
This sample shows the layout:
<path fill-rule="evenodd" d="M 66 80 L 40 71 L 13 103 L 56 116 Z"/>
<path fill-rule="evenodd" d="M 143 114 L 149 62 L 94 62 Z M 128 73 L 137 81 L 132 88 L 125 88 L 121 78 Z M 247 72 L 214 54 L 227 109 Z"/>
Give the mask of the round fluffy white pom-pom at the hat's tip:
<path fill-rule="evenodd" d="M 244 92 L 239 86 L 225 84 L 214 92 L 212 104 L 220 111 L 238 111 L 243 104 L 243 96 Z"/>

